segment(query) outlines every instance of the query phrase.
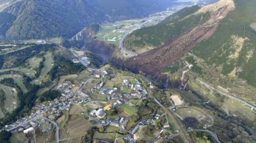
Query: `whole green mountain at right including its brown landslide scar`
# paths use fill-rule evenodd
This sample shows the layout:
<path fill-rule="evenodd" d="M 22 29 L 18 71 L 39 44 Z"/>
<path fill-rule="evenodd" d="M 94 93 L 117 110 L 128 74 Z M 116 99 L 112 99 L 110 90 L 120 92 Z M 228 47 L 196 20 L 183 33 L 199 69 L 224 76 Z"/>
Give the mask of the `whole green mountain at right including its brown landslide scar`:
<path fill-rule="evenodd" d="M 155 49 L 128 59 L 125 65 L 155 75 L 189 52 L 202 69 L 200 75 L 212 82 L 218 80 L 215 84 L 255 86 L 253 7 L 255 0 L 221 0 L 200 9 L 185 8 L 154 27 L 136 30 L 125 39 L 125 47 Z"/>

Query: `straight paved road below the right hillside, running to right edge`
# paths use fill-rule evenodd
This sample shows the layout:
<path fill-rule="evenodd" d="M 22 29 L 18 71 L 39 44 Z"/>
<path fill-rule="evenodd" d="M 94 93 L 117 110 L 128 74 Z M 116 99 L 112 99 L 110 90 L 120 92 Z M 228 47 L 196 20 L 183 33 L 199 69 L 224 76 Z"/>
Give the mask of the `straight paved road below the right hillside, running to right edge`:
<path fill-rule="evenodd" d="M 211 89 L 211 90 L 214 90 L 214 91 L 218 92 L 218 93 L 221 94 L 221 95 L 224 95 L 224 96 L 226 96 L 226 97 L 229 97 L 229 98 L 232 98 L 232 99 L 234 99 L 234 100 L 237 100 L 237 101 L 239 101 L 239 102 L 241 102 L 241 103 L 243 103 L 243 104 L 245 104 L 245 105 L 251 107 L 252 109 L 255 109 L 255 110 L 256 110 L 256 107 L 255 107 L 254 105 L 251 105 L 251 104 L 249 104 L 249 103 L 247 103 L 247 102 L 245 102 L 245 101 L 243 101 L 243 100 L 241 100 L 241 99 L 239 99 L 239 98 L 237 98 L 237 97 L 234 97 L 233 95 L 230 95 L 230 94 L 227 94 L 227 93 L 225 93 L 225 92 L 223 92 L 223 91 L 220 91 L 219 89 L 216 89 L 216 88 L 214 88 L 213 86 L 207 84 L 207 83 L 204 82 L 203 80 L 198 79 L 198 78 L 195 77 L 194 75 L 191 75 L 191 74 L 189 74 L 189 75 L 190 75 L 191 77 L 193 77 L 194 79 L 196 79 L 196 80 L 197 80 L 198 82 L 200 82 L 201 84 L 203 84 L 204 86 L 206 86 L 207 88 L 209 88 L 209 89 Z"/>

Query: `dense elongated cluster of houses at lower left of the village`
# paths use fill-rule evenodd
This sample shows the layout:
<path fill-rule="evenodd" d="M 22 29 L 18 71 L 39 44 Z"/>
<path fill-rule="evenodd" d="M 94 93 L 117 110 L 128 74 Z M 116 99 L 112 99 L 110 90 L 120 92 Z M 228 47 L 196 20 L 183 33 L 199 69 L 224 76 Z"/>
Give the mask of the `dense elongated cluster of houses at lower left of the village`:
<path fill-rule="evenodd" d="M 34 130 L 35 127 L 40 127 L 40 124 L 45 122 L 45 120 L 43 119 L 40 122 L 38 122 L 37 120 L 33 120 L 37 116 L 44 115 L 44 116 L 47 116 L 47 118 L 49 118 L 50 120 L 56 120 L 58 117 L 62 115 L 61 111 L 69 110 L 71 106 L 70 103 L 77 98 L 77 97 L 73 97 L 74 94 L 71 91 L 71 88 L 73 88 L 74 86 L 75 85 L 70 81 L 64 82 L 57 88 L 62 93 L 61 94 L 62 96 L 60 98 L 56 98 L 52 102 L 49 101 L 47 105 L 37 104 L 32 109 L 32 111 L 34 112 L 32 112 L 28 118 L 18 119 L 15 123 L 12 123 L 11 125 L 5 125 L 5 130 L 9 130 L 13 134 L 17 132 L 22 132 L 22 131 L 25 134 L 27 134 L 28 132 Z M 88 95 L 86 95 L 82 91 L 78 93 L 83 97 L 81 101 L 85 102 L 86 97 Z M 51 125 L 42 129 L 42 132 L 45 133 L 45 132 L 48 132 L 49 130 L 51 130 Z"/>

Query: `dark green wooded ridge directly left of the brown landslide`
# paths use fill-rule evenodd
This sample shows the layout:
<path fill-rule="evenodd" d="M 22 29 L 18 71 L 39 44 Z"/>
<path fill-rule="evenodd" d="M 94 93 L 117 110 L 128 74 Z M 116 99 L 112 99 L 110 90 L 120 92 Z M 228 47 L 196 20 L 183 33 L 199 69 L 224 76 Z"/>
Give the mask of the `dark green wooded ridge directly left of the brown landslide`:
<path fill-rule="evenodd" d="M 163 45 L 195 25 L 203 23 L 210 17 L 209 13 L 189 16 L 198 11 L 198 9 L 200 9 L 198 5 L 186 7 L 167 17 L 156 26 L 135 30 L 125 39 L 125 48 L 137 52 L 145 47 L 155 48 Z"/>

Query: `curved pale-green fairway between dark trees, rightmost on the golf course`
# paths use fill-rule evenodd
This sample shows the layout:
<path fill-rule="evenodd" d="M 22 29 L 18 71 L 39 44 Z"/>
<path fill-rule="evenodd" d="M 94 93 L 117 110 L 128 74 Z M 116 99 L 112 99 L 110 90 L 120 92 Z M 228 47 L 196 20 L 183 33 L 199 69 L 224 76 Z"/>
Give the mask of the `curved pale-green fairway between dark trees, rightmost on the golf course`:
<path fill-rule="evenodd" d="M 45 75 L 51 70 L 53 67 L 53 55 L 51 52 L 47 52 L 45 56 L 44 68 L 41 69 L 40 76 L 32 81 L 33 84 L 41 84 L 42 80 L 44 80 Z"/>

